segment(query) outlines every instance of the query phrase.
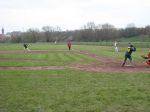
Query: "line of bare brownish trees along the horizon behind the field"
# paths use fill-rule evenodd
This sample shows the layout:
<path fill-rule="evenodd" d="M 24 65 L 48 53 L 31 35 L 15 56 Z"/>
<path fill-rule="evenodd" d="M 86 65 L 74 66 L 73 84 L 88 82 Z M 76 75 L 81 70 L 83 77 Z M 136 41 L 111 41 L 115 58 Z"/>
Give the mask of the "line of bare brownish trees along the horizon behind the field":
<path fill-rule="evenodd" d="M 37 28 L 31 28 L 26 32 L 13 31 L 8 34 L 10 36 L 1 42 L 99 42 L 140 35 L 149 35 L 150 37 L 150 26 L 137 28 L 134 24 L 128 24 L 126 28 L 115 28 L 111 24 L 96 25 L 94 22 L 88 22 L 79 30 L 73 31 L 62 31 L 58 26 L 44 26 L 41 31 Z"/>

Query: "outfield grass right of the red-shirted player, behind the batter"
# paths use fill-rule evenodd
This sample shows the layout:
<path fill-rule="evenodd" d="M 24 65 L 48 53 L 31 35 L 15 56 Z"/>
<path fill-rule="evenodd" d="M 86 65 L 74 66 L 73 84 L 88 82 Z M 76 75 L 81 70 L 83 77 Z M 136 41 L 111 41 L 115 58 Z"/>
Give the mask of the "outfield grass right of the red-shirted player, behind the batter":
<path fill-rule="evenodd" d="M 116 59 L 123 59 L 127 51 L 127 47 L 118 47 L 119 52 L 114 52 L 114 48 L 110 46 L 89 46 L 89 45 L 75 45 L 75 49 L 86 50 L 97 55 L 108 56 Z M 133 60 L 143 60 L 141 55 L 147 55 L 148 48 L 138 48 L 137 51 L 132 53 Z"/>

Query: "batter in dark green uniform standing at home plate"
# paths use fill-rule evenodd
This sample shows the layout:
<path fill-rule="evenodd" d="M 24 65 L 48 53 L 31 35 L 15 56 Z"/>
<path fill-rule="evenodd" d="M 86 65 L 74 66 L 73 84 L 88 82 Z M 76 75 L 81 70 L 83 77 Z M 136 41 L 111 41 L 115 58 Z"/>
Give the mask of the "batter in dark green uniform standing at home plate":
<path fill-rule="evenodd" d="M 136 51 L 136 48 L 131 43 L 129 43 L 129 47 L 128 47 L 127 51 L 125 52 L 124 61 L 123 61 L 122 65 L 121 65 L 122 67 L 125 65 L 127 59 L 129 59 L 131 65 L 133 65 L 131 54 L 132 54 L 132 52 L 135 52 L 135 51 Z"/>

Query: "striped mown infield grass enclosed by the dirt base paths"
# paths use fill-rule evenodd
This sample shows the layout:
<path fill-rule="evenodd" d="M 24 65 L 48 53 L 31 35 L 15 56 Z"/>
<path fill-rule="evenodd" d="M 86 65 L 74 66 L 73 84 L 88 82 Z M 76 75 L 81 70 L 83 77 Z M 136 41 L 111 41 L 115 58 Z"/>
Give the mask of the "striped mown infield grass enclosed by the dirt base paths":
<path fill-rule="evenodd" d="M 74 52 L 2 53 L 0 60 L 0 66 L 48 66 L 95 61 L 94 58 Z"/>

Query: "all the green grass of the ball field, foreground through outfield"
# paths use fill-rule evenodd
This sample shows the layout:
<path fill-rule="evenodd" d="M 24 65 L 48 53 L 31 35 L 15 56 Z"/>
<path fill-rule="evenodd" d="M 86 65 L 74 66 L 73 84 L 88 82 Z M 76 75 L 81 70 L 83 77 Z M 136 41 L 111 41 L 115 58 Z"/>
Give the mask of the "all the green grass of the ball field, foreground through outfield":
<path fill-rule="evenodd" d="M 19 47 L 18 47 L 19 46 Z M 0 66 L 47 66 L 93 62 L 74 52 L 32 52 L 66 49 L 66 45 L 31 44 L 31 52 L 1 53 Z M 127 47 L 73 45 L 75 50 L 123 59 Z M 22 44 L 0 44 L 21 50 Z M 148 48 L 137 48 L 133 59 Z M 8 59 L 3 59 L 8 58 Z M 13 60 L 15 59 L 15 60 Z M 23 60 L 26 59 L 26 60 Z M 33 60 L 33 61 L 31 61 Z M 95 73 L 77 70 L 0 70 L 0 112 L 149 112 L 149 73 Z"/>

